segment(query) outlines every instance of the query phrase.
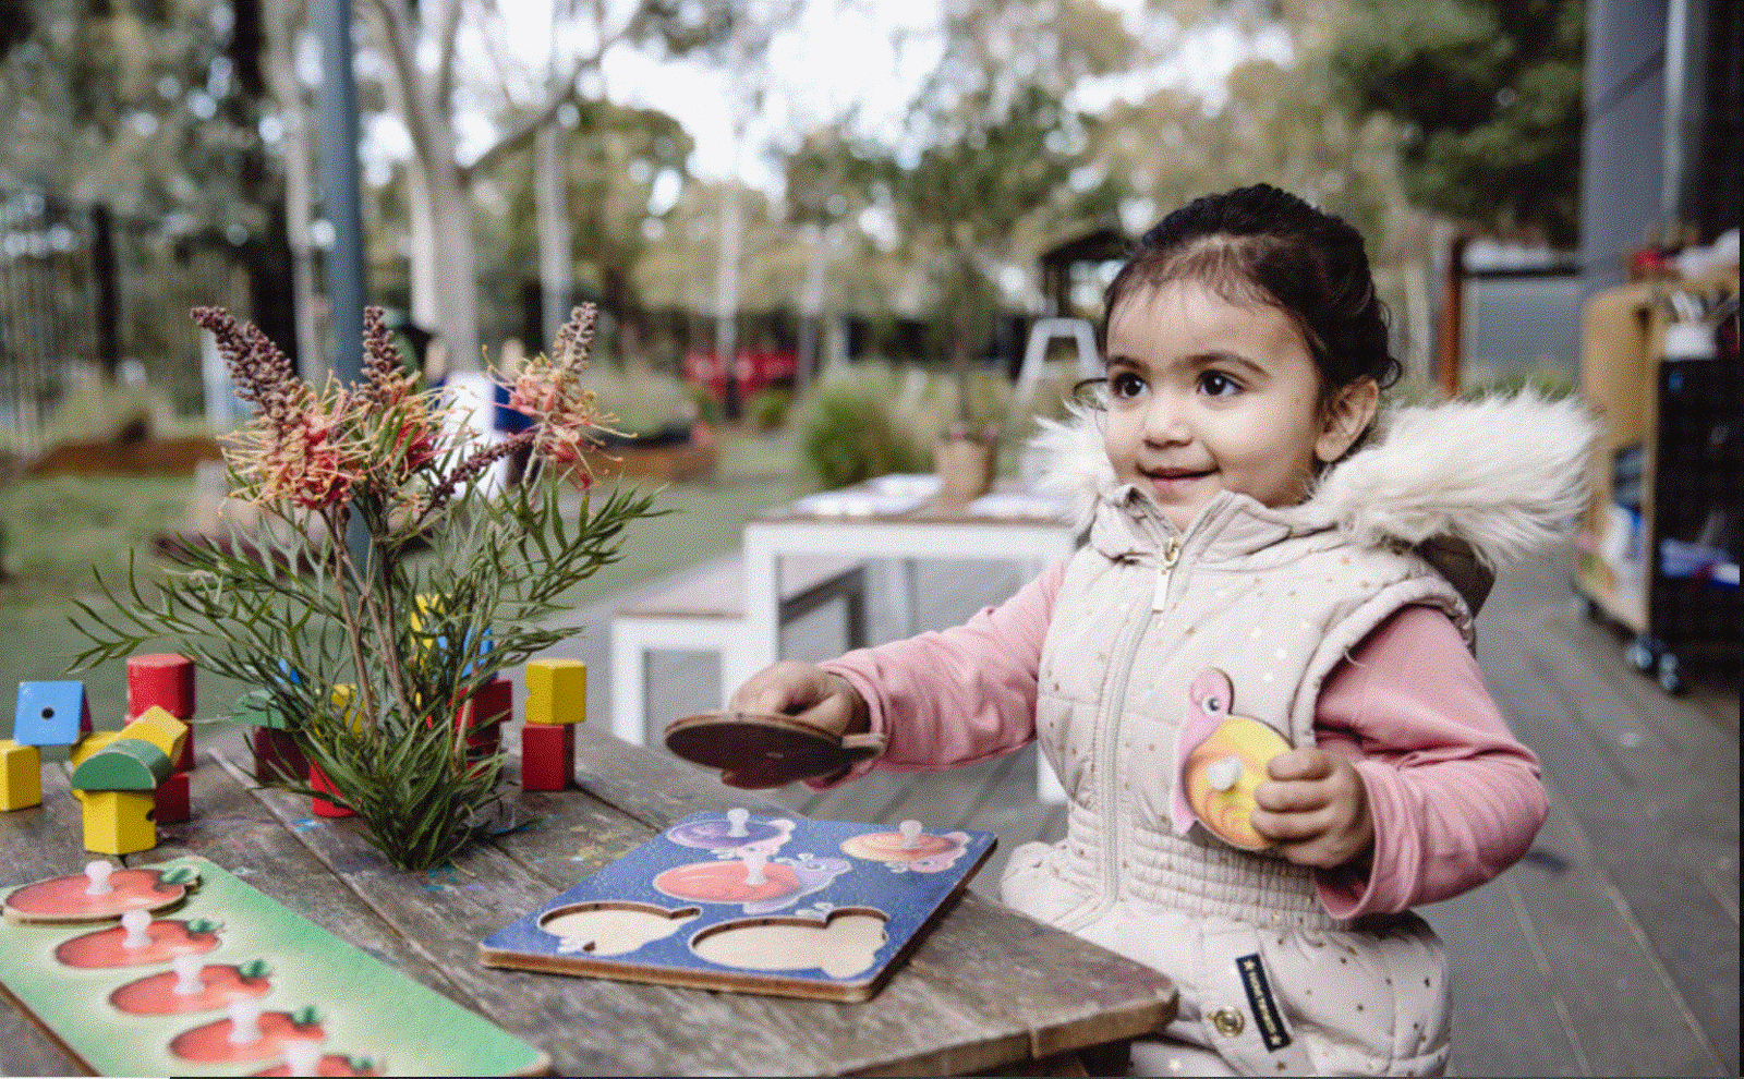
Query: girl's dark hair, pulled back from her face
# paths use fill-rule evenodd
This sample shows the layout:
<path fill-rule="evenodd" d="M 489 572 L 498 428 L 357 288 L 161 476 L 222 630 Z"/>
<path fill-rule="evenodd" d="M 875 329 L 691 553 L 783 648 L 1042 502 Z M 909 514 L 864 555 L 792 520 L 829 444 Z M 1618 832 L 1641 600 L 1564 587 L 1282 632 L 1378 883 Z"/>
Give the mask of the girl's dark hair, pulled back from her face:
<path fill-rule="evenodd" d="M 1374 293 L 1362 234 L 1289 192 L 1254 185 L 1205 195 L 1158 221 L 1107 286 L 1104 333 L 1130 293 L 1196 281 L 1230 303 L 1266 303 L 1296 321 L 1322 396 L 1357 378 L 1399 380 L 1386 305 Z"/>

